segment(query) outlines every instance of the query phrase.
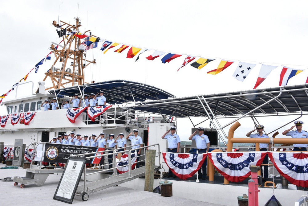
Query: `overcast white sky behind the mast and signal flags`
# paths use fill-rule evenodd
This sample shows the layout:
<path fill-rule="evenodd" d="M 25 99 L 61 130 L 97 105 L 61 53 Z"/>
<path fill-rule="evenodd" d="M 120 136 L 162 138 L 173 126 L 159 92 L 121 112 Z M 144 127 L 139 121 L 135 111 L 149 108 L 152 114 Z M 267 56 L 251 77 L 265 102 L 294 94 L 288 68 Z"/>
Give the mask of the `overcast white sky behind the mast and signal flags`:
<path fill-rule="evenodd" d="M 164 89 L 176 97 L 186 97 L 252 89 L 261 62 L 295 69 L 308 68 L 307 1 L 0 2 L 4 37 L 0 50 L 1 94 L 11 89 L 50 52 L 51 41 L 60 41 L 55 27 L 51 26 L 52 21 L 58 21 L 59 16 L 60 20 L 73 24 L 77 14 L 81 18 L 81 32 L 90 29 L 101 39 L 184 54 L 162 64 L 160 58 L 145 59 L 153 51 L 142 54 L 140 60 L 134 62 L 134 59 L 126 58 L 127 50 L 120 54 L 110 50 L 103 55 L 99 49 L 93 49 L 87 52 L 87 58 L 96 59 L 97 64 L 87 68 L 85 78 L 88 82 L 132 80 Z M 201 70 L 187 65 L 177 72 L 185 54 L 217 60 Z M 232 77 L 237 62 L 218 75 L 207 75 L 206 72 L 217 68 L 220 58 L 257 66 L 244 82 Z M 30 73 L 27 81 L 38 85 L 51 64 L 52 61 L 45 62 L 38 73 Z M 275 69 L 259 88 L 277 87 L 281 70 L 282 67 Z M 307 76 L 308 70 L 304 70 L 290 79 L 288 85 L 305 84 Z M 12 96 L 15 94 L 11 93 L 7 98 Z M 0 111 L 5 113 L 4 106 Z M 302 120 L 305 122 L 306 119 Z M 239 136 L 253 129 L 249 121 L 245 122 L 246 126 L 241 122 L 243 132 Z M 265 124 L 269 130 L 278 127 Z M 178 133 L 187 139 L 192 126 L 179 122 L 178 127 Z"/>

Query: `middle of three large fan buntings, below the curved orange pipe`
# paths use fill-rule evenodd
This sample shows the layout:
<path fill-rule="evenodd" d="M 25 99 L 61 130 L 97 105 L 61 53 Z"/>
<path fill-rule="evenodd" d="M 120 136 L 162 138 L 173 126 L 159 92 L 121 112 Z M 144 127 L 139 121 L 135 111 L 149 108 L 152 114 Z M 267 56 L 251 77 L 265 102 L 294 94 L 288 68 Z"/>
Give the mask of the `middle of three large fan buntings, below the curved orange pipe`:
<path fill-rule="evenodd" d="M 260 166 L 266 152 L 223 152 L 208 153 L 209 160 L 216 170 L 230 182 L 241 182 L 251 171 L 249 167 Z"/>

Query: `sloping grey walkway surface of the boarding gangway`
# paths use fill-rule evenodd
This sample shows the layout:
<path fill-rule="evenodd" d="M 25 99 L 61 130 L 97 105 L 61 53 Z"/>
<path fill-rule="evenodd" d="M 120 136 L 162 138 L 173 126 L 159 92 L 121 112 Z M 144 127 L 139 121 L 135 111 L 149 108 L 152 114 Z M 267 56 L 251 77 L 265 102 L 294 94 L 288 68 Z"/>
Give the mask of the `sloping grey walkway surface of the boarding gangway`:
<path fill-rule="evenodd" d="M 158 170 L 160 169 L 159 166 L 154 166 L 154 170 Z M 108 177 L 105 179 L 100 179 L 97 180 L 95 182 L 91 182 L 91 183 L 87 183 L 86 184 L 86 191 L 84 191 L 84 185 L 81 184 L 80 186 L 78 186 L 77 190 L 76 190 L 76 194 L 80 195 L 82 193 L 88 193 L 91 194 L 93 192 L 97 192 L 109 187 L 113 187 L 115 185 L 124 183 L 124 182 L 128 182 L 131 181 L 133 179 L 136 179 L 138 177 L 142 177 L 145 175 L 145 167 L 139 167 L 136 168 L 134 170 L 132 170 L 132 177 L 129 177 L 128 172 L 125 172 L 123 174 L 120 175 L 116 175 L 116 176 L 112 176 L 112 177 Z"/>

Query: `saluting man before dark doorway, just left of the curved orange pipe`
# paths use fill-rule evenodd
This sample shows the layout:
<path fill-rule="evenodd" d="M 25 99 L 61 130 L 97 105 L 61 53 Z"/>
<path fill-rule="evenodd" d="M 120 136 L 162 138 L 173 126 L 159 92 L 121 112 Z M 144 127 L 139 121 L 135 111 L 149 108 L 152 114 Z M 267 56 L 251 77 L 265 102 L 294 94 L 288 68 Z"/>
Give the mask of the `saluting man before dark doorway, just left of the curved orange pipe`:
<path fill-rule="evenodd" d="M 197 132 L 199 134 L 197 134 Z M 199 154 L 203 154 L 203 153 L 207 153 L 209 152 L 209 148 L 210 148 L 210 141 L 209 141 L 209 137 L 204 133 L 204 128 L 203 127 L 198 127 L 198 130 L 196 130 L 192 135 L 189 136 L 189 140 L 195 140 L 196 141 L 196 146 L 197 146 L 197 150 Z M 206 179 L 206 159 L 202 164 L 202 173 L 201 173 L 201 168 L 200 170 L 198 170 L 198 176 L 199 179 L 201 178 L 202 175 L 202 179 L 205 180 Z M 197 178 L 196 178 L 197 179 Z"/>

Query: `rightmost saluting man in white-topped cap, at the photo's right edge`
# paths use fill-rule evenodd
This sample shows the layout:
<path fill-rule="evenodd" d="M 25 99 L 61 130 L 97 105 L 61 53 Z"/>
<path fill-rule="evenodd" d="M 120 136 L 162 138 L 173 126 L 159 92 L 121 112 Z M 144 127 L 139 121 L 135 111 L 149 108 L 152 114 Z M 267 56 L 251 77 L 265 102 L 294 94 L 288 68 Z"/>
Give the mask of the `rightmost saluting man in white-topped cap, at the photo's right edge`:
<path fill-rule="evenodd" d="M 295 125 L 292 126 L 291 129 L 282 132 L 282 134 L 286 136 L 291 136 L 292 138 L 307 138 L 308 132 L 302 130 L 304 122 L 295 121 L 294 124 Z M 294 127 L 296 127 L 296 130 L 292 130 Z M 293 144 L 293 146 L 293 151 L 307 151 L 307 144 Z"/>

